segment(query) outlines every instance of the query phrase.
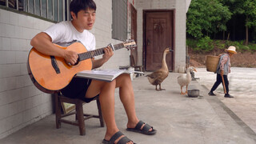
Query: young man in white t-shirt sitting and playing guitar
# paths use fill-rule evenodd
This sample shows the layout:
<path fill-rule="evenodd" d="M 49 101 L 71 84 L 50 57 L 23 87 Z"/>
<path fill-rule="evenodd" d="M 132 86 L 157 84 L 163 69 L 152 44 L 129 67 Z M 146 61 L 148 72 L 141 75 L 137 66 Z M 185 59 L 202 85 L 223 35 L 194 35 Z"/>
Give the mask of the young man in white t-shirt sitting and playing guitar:
<path fill-rule="evenodd" d="M 47 30 L 37 34 L 30 42 L 36 50 L 42 54 L 61 57 L 66 62 L 74 65 L 78 60 L 78 54 L 72 50 L 63 50 L 53 43 L 66 46 L 73 40 L 78 40 L 86 47 L 86 50 L 95 50 L 94 34 L 91 30 L 96 17 L 96 4 L 93 0 L 73 0 L 70 3 L 70 14 L 72 20 L 59 22 L 50 26 Z M 93 69 L 102 66 L 113 56 L 110 47 L 104 49 L 102 58 L 92 58 Z M 103 143 L 134 143 L 125 137 L 118 130 L 114 118 L 114 90 L 119 88 L 119 96 L 126 110 L 128 122 L 127 129 L 142 134 L 156 134 L 152 126 L 138 120 L 134 108 L 134 90 L 129 74 L 122 74 L 112 82 L 90 80 L 86 78 L 73 78 L 68 86 L 62 91 L 64 96 L 69 98 L 80 98 L 85 102 L 90 102 L 99 95 L 102 107 L 102 115 L 106 122 L 106 134 Z"/>

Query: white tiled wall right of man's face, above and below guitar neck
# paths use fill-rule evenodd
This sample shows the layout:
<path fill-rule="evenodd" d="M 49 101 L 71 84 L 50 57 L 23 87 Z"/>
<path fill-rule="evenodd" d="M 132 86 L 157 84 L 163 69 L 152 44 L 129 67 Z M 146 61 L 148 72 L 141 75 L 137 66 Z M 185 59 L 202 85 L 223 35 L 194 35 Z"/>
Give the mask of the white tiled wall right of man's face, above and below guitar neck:
<path fill-rule="evenodd" d="M 112 0 L 94 0 L 97 5 L 96 22 L 91 32 L 96 37 L 96 47 L 102 48 L 109 43 L 118 44 L 121 41 L 112 39 Z M 121 49 L 114 51 L 102 69 L 118 69 L 119 66 L 130 66 L 130 51 Z"/>

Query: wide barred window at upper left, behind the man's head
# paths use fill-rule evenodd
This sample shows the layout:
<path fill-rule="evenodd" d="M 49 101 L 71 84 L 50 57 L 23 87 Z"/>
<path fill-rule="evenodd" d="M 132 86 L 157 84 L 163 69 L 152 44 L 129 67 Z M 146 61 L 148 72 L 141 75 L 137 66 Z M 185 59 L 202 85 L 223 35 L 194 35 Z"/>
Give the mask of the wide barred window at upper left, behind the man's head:
<path fill-rule="evenodd" d="M 0 0 L 0 5 L 10 9 L 25 11 L 56 22 L 68 20 L 66 15 L 71 0 Z"/>

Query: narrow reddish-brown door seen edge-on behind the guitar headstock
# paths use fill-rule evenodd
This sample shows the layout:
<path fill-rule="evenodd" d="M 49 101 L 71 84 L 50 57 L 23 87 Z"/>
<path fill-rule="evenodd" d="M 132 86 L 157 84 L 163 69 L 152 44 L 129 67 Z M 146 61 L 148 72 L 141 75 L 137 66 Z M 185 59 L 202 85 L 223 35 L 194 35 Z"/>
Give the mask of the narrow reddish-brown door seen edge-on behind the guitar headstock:
<path fill-rule="evenodd" d="M 137 43 L 137 10 L 133 5 L 130 5 L 131 9 L 131 39 Z M 138 50 L 137 47 L 130 50 L 130 54 L 133 56 L 134 61 L 130 61 L 131 66 L 138 66 Z M 131 58 L 131 57 L 130 57 Z"/>

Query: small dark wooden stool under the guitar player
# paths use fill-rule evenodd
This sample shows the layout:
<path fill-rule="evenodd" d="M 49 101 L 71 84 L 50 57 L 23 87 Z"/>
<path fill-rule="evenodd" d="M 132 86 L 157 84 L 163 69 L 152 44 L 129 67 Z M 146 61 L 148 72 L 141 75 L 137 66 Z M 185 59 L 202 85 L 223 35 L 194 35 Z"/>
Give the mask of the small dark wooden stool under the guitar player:
<path fill-rule="evenodd" d="M 59 129 L 61 127 L 61 122 L 78 126 L 80 135 L 85 135 L 86 134 L 86 126 L 85 126 L 85 120 L 89 118 L 99 118 L 100 124 L 102 127 L 104 127 L 104 121 L 102 118 L 102 109 L 100 106 L 100 102 L 98 97 L 94 98 L 94 100 L 97 101 L 97 106 L 98 106 L 98 115 L 93 115 L 93 114 L 84 114 L 82 110 L 82 104 L 84 103 L 80 99 L 74 99 L 74 98 L 66 98 L 62 96 L 60 92 L 54 93 L 55 95 L 55 116 L 56 116 L 56 128 Z M 67 114 L 62 114 L 62 102 L 67 102 L 74 104 L 75 110 L 70 111 Z M 75 120 L 66 120 L 64 119 L 67 116 L 70 116 L 72 114 L 75 114 Z"/>

